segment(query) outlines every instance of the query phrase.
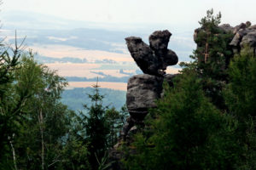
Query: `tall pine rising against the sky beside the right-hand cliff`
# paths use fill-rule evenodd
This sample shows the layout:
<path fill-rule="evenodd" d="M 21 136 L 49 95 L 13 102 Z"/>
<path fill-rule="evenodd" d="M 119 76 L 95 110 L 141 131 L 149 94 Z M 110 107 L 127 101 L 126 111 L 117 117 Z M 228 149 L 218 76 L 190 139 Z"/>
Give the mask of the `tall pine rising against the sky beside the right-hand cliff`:
<path fill-rule="evenodd" d="M 203 88 L 207 97 L 212 99 L 214 105 L 224 109 L 224 99 L 221 90 L 227 82 L 227 67 L 232 58 L 229 43 L 233 34 L 218 27 L 221 22 L 221 14 L 213 15 L 213 10 L 207 11 L 199 24 L 201 28 L 195 31 L 197 48 L 190 58 L 195 59 L 189 66 L 202 78 Z"/>

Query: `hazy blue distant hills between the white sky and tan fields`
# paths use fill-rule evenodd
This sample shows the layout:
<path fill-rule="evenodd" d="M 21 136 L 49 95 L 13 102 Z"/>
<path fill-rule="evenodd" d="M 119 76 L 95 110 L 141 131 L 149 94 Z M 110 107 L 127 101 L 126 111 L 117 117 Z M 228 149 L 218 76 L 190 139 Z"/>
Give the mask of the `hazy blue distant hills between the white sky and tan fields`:
<path fill-rule="evenodd" d="M 18 36 L 26 36 L 28 46 L 58 44 L 76 48 L 95 49 L 123 53 L 125 37 L 143 37 L 148 42 L 148 36 L 156 29 L 169 29 L 172 37 L 170 48 L 179 56 L 180 60 L 188 60 L 189 54 L 195 48 L 193 31 L 188 32 L 170 26 L 137 26 L 141 29 L 134 31 L 132 26 L 96 23 L 91 21 L 67 20 L 48 14 L 38 14 L 25 11 L 2 11 L 0 18 L 3 30 L 2 37 L 14 37 L 14 31 Z M 118 28 L 118 29 L 117 29 Z M 14 42 L 13 38 L 9 42 Z M 48 56 L 51 57 L 51 56 Z"/>

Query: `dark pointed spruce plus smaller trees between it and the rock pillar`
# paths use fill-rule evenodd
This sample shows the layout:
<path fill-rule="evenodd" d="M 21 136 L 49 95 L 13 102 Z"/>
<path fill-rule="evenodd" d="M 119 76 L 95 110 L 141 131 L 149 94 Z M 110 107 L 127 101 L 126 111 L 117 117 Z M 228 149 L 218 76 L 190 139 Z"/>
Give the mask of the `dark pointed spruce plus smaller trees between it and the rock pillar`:
<path fill-rule="evenodd" d="M 80 111 L 79 115 L 79 134 L 90 153 L 88 159 L 92 169 L 103 167 L 99 160 L 106 161 L 106 153 L 116 144 L 127 115 L 125 106 L 119 112 L 114 107 L 108 109 L 108 106 L 102 105 L 104 96 L 99 93 L 97 83 L 93 86 L 94 93 L 88 94 L 91 105 L 84 105 L 86 111 Z"/>

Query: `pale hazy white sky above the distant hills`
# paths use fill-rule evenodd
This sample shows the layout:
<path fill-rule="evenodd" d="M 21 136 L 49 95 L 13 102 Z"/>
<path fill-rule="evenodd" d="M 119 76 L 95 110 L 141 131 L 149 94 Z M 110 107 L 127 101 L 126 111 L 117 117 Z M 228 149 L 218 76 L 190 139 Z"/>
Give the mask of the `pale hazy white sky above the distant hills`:
<path fill-rule="evenodd" d="M 2 0 L 2 11 L 25 10 L 105 23 L 197 25 L 209 8 L 223 23 L 256 24 L 256 0 Z"/>

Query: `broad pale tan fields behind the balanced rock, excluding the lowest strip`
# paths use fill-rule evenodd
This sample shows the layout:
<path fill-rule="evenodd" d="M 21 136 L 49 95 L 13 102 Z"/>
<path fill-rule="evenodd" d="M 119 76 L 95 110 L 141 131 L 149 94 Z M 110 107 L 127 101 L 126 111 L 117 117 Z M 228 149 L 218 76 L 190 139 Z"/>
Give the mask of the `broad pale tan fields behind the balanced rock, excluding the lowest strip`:
<path fill-rule="evenodd" d="M 104 75 L 112 77 L 127 77 L 127 74 L 120 73 L 119 70 L 124 70 L 125 72 L 135 73 L 137 66 L 130 54 L 117 54 L 107 51 L 100 50 L 85 50 L 83 48 L 74 48 L 66 45 L 43 45 L 38 46 L 35 44 L 30 47 L 39 55 L 48 56 L 51 58 L 79 58 L 86 59 L 90 63 L 45 63 L 50 69 L 58 71 L 61 77 L 104 77 Z M 110 63 L 93 63 L 96 60 L 102 59 L 112 59 L 113 64 Z M 92 62 L 92 63 L 91 63 Z M 176 74 L 179 69 L 169 66 L 167 68 L 168 74 Z M 96 74 L 96 72 L 103 73 Z"/>

